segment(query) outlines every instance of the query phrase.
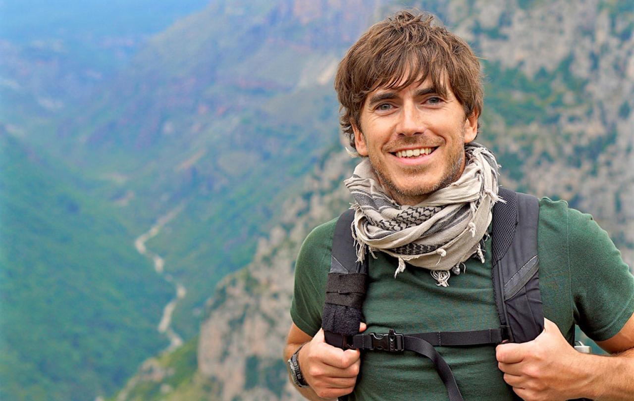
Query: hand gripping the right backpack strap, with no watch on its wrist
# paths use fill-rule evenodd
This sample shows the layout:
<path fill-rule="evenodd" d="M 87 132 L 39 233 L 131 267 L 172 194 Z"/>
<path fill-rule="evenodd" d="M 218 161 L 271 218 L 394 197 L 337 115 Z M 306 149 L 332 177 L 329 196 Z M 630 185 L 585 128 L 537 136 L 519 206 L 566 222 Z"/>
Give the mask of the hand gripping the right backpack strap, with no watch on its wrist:
<path fill-rule="evenodd" d="M 544 331 L 533 341 L 496 347 L 504 381 L 524 400 L 569 400 L 578 390 L 574 367 L 582 354 L 566 341 L 557 325 L 544 319 Z"/>

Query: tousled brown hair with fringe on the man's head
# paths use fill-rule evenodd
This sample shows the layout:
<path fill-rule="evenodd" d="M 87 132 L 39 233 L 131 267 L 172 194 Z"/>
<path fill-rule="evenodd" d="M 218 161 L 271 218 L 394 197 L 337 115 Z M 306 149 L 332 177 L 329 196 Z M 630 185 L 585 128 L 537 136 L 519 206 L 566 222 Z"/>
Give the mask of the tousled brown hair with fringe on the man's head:
<path fill-rule="evenodd" d="M 397 91 L 430 78 L 432 85 L 451 91 L 465 110 L 465 118 L 482 111 L 480 62 L 467 42 L 446 30 L 430 13 L 399 11 L 375 23 L 348 50 L 339 63 L 335 91 L 340 103 L 339 124 L 354 146 L 353 125 L 368 93 Z"/>

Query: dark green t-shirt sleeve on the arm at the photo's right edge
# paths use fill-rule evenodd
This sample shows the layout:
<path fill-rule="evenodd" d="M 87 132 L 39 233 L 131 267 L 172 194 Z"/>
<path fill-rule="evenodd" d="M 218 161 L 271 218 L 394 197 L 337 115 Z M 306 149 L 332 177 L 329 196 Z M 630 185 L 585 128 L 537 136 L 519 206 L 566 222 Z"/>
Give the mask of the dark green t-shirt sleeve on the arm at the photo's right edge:
<path fill-rule="evenodd" d="M 574 319 L 595 341 L 617 334 L 634 313 L 634 277 L 591 215 L 567 210 Z"/>

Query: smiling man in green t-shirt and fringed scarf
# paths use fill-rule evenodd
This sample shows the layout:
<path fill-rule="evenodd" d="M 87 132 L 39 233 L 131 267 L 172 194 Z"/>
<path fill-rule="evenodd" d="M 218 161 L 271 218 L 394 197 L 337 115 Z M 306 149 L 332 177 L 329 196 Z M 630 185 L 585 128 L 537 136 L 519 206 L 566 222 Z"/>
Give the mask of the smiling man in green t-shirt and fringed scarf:
<path fill-rule="evenodd" d="M 499 326 L 491 280 L 495 157 L 472 143 L 482 110 L 479 62 L 427 15 L 375 24 L 339 65 L 341 124 L 362 156 L 346 181 L 353 236 L 370 257 L 359 331 L 467 331 Z M 540 200 L 538 255 L 545 329 L 527 343 L 438 347 L 466 400 L 634 399 L 634 278 L 592 217 Z M 404 217 L 407 215 L 407 217 Z M 429 360 L 341 350 L 321 330 L 335 220 L 297 259 L 294 353 L 304 397 L 446 400 Z M 459 274 L 459 275 L 458 275 Z M 576 352 L 578 324 L 611 357 Z M 299 350 L 299 352 L 297 352 Z"/>

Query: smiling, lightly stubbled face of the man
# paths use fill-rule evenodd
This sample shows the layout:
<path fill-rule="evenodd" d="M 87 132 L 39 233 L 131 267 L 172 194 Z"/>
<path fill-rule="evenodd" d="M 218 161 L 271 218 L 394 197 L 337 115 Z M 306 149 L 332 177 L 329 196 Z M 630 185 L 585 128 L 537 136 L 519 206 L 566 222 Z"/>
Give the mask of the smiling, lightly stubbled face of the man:
<path fill-rule="evenodd" d="M 464 144 L 475 139 L 477 113 L 465 111 L 447 84 L 445 95 L 430 79 L 401 91 L 378 88 L 366 97 L 356 150 L 369 156 L 378 178 L 401 205 L 456 181 L 465 166 Z"/>

